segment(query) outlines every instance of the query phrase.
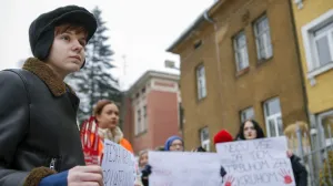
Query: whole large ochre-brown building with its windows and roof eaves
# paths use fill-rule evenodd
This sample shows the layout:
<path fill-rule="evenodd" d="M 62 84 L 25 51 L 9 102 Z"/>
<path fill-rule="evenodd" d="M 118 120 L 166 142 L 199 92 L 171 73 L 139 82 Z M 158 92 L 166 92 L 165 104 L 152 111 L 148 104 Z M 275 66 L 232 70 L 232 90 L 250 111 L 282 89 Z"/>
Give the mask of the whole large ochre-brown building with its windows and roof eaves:
<path fill-rule="evenodd" d="M 249 118 L 270 137 L 307 123 L 290 0 L 215 1 L 168 51 L 181 59 L 186 149 L 214 151 L 220 130 L 236 136 Z"/>

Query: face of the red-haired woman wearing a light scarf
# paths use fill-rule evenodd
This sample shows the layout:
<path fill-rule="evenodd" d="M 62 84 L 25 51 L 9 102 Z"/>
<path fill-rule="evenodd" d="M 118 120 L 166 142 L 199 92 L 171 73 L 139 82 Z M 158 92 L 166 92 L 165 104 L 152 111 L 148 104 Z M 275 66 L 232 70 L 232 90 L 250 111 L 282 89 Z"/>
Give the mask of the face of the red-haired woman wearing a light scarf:
<path fill-rule="evenodd" d="M 111 128 L 117 127 L 119 122 L 119 110 L 118 106 L 113 103 L 107 104 L 101 114 L 97 115 L 99 126 L 101 128 Z"/>

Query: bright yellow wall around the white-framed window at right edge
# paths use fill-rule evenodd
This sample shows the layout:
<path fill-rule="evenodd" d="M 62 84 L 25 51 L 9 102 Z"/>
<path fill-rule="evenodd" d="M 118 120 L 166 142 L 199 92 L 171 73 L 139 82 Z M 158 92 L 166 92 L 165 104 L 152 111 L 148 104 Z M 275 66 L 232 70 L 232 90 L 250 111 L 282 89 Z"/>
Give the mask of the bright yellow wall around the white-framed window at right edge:
<path fill-rule="evenodd" d="M 333 1 L 327 0 L 315 0 L 315 1 L 303 1 L 303 8 L 297 9 L 296 4 L 293 3 L 293 13 L 295 20 L 295 27 L 299 38 L 301 61 L 304 74 L 304 82 L 309 96 L 309 110 L 311 113 L 321 113 L 333 108 L 333 70 L 329 70 L 324 73 L 314 78 L 315 83 L 312 84 L 311 80 L 307 79 L 310 72 L 306 59 L 306 51 L 304 46 L 304 38 L 302 35 L 302 28 L 306 24 L 314 22 L 324 13 L 333 11 Z M 332 16 L 333 17 L 333 16 Z M 331 18 L 333 21 L 333 18 Z"/>

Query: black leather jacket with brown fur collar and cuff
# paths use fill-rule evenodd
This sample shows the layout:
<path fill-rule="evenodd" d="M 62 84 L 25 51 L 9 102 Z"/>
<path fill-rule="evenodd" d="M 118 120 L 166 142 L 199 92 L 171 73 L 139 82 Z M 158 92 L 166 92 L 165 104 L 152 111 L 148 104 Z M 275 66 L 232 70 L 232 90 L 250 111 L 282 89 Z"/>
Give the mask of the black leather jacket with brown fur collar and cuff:
<path fill-rule="evenodd" d="M 84 165 L 77 125 L 79 99 L 51 69 L 28 59 L 0 72 L 0 185 L 38 185 Z"/>

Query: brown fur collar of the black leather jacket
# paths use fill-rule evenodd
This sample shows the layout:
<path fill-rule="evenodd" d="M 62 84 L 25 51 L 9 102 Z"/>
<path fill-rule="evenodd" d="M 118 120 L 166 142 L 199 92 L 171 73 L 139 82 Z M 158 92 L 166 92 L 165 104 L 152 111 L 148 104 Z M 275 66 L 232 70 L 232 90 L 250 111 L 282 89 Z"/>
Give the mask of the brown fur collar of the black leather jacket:
<path fill-rule="evenodd" d="M 49 90 L 54 96 L 64 94 L 67 87 L 71 93 L 75 94 L 72 89 L 62 80 L 60 80 L 44 62 L 38 60 L 37 58 L 29 58 L 24 62 L 22 69 L 32 72 L 39 79 L 41 79 L 48 85 Z"/>

